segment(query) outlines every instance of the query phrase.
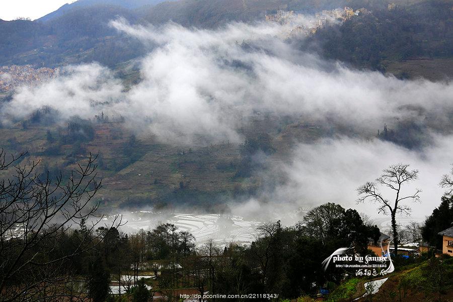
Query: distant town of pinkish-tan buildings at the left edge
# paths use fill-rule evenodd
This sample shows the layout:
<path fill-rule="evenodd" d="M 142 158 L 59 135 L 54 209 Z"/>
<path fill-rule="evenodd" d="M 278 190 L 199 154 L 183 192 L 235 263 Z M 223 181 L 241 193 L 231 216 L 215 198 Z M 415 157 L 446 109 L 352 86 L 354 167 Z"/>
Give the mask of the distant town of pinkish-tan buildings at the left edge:
<path fill-rule="evenodd" d="M 11 92 L 20 86 L 31 87 L 55 78 L 59 68 L 34 68 L 33 65 L 0 66 L 0 91 Z"/>

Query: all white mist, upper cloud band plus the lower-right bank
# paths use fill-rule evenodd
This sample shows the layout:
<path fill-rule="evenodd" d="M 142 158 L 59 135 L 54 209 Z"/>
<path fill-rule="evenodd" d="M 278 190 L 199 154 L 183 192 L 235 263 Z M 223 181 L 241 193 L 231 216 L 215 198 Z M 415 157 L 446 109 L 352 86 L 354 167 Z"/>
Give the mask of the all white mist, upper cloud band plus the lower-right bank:
<path fill-rule="evenodd" d="M 412 217 L 423 219 L 439 204 L 438 182 L 453 163 L 451 82 L 400 80 L 324 61 L 285 41 L 285 25 L 232 23 L 202 30 L 174 23 L 136 26 L 123 19 L 110 25 L 149 47 L 139 59 L 140 83 L 126 88 L 114 70 L 96 62 L 68 66 L 54 80 L 18 90 L 1 109 L 2 123 L 10 125 L 44 106 L 56 109 L 61 122 L 103 111 L 123 116 L 137 133 L 190 146 L 240 144 L 239 129 L 257 115 L 290 116 L 348 133 L 297 143 L 284 161 L 266 158 L 261 176 L 269 185 L 256 198 L 232 200 L 232 214 L 290 222 L 300 218 L 302 208 L 336 202 L 378 217 L 377 206 L 355 203 L 355 189 L 399 162 L 420 174 L 405 188 L 423 190 Z M 301 38 L 297 45 L 303 44 Z M 385 123 L 407 120 L 426 127 L 429 139 L 420 148 L 375 138 Z"/>

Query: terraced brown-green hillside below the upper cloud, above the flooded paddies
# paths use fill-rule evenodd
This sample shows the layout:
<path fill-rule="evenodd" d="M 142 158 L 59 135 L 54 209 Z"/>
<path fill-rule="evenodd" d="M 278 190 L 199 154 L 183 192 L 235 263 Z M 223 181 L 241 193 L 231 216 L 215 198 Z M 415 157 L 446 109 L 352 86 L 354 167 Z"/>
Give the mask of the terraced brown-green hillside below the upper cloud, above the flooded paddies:
<path fill-rule="evenodd" d="M 257 118 L 243 130 L 245 144 L 176 147 L 153 136 L 135 136 L 117 121 L 73 120 L 61 127 L 46 122 L 45 114 L 34 116 L 0 128 L 2 147 L 8 153 L 25 147 L 29 152 L 25 161 L 40 160 L 40 170 L 49 170 L 53 177 L 59 170 L 75 169 L 89 151 L 98 154 L 103 187 L 97 197 L 108 208 L 184 204 L 215 210 L 223 201 L 247 197 L 261 188 L 259 171 L 266 167 L 249 158 L 258 150 L 269 149 L 271 161 L 284 162 L 296 142 L 313 142 L 326 135 L 310 123 L 285 125 Z M 72 132 L 74 125 L 91 134 Z"/>

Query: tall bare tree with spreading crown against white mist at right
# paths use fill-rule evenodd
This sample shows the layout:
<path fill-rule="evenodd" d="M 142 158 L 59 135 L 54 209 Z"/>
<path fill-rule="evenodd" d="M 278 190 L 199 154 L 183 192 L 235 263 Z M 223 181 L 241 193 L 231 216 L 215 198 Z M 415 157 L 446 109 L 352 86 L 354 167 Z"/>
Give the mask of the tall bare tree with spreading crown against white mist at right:
<path fill-rule="evenodd" d="M 383 171 L 383 174 L 376 178 L 374 182 L 367 182 L 357 189 L 359 198 L 357 203 L 363 203 L 366 200 L 379 204 L 378 213 L 385 215 L 390 214 L 392 219 L 392 233 L 395 246 L 395 255 L 398 254 L 398 230 L 397 214 L 409 215 L 411 208 L 402 202 L 412 200 L 420 202 L 420 189 L 415 189 L 411 195 L 402 195 L 403 185 L 410 183 L 418 178 L 418 170 L 409 170 L 408 164 L 391 165 Z M 379 191 L 379 187 L 390 188 L 395 194 L 392 199 L 388 199 Z"/>

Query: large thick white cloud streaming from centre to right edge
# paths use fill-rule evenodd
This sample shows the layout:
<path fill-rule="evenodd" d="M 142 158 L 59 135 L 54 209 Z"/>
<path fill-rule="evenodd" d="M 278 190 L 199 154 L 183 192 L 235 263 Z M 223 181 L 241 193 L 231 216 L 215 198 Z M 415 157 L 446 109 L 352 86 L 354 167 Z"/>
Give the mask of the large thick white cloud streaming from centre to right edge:
<path fill-rule="evenodd" d="M 276 38 L 280 26 L 199 30 L 121 20 L 112 26 L 159 45 L 143 59 L 144 81 L 130 95 L 133 103 L 148 98 L 156 133 L 179 134 L 184 127 L 190 138 L 198 133 L 236 141 L 237 128 L 255 112 L 329 120 L 374 133 L 385 122 L 417 117 L 421 107 L 426 116 L 450 123 L 450 83 L 403 81 L 339 63 L 326 69 L 320 59 Z"/>

